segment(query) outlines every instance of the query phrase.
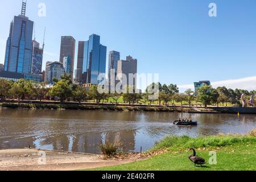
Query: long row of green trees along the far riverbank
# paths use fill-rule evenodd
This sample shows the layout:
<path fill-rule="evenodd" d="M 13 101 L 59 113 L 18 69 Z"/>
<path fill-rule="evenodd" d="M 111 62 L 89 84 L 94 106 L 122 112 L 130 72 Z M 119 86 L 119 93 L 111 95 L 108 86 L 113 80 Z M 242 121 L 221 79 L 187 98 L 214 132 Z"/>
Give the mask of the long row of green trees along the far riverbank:
<path fill-rule="evenodd" d="M 216 89 L 212 86 L 205 85 L 199 89 L 197 96 L 191 89 L 186 90 L 184 93 L 179 92 L 177 85 L 152 83 L 147 86 L 144 93 L 99 93 L 98 86 L 92 85 L 89 89 L 84 89 L 80 85 L 73 84 L 71 76 L 65 74 L 61 76 L 61 80 L 53 78 L 55 84 L 52 88 L 48 88 L 45 82 L 34 83 L 32 81 L 20 79 L 16 82 L 12 80 L 0 79 L 0 101 L 4 102 L 7 99 L 20 100 L 55 100 L 61 103 L 65 101 L 75 101 L 79 104 L 83 101 L 94 101 L 97 104 L 100 102 L 109 102 L 109 98 L 113 104 L 118 105 L 118 100 L 122 97 L 123 102 L 130 105 L 144 104 L 152 105 L 158 102 L 159 105 L 174 105 L 180 103 L 181 106 L 184 102 L 192 106 L 193 103 L 200 103 L 207 107 L 207 105 L 241 105 L 241 94 L 245 93 L 247 96 L 256 94 L 256 91 L 247 91 L 241 89 L 227 89 L 225 87 L 218 87 Z M 151 89 L 158 88 L 158 97 L 152 98 L 150 95 Z M 129 88 L 127 88 L 129 89 Z"/>

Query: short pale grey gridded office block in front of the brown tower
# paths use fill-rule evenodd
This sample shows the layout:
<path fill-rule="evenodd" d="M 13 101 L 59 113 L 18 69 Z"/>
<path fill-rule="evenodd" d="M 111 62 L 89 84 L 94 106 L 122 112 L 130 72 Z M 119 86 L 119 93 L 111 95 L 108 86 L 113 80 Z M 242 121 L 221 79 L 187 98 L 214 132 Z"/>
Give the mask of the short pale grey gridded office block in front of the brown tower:
<path fill-rule="evenodd" d="M 53 78 L 57 78 L 57 80 L 60 80 L 61 75 L 64 75 L 63 64 L 59 61 L 47 61 L 44 81 L 49 84 L 53 84 Z"/>

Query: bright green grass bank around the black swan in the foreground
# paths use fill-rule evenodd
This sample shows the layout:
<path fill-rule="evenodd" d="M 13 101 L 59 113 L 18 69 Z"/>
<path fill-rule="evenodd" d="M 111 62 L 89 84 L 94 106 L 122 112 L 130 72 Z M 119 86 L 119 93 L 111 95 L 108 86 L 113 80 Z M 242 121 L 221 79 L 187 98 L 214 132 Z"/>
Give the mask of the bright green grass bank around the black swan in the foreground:
<path fill-rule="evenodd" d="M 197 155 L 203 157 L 205 167 L 194 167 L 188 156 L 189 148 L 196 148 Z M 96 171 L 255 171 L 256 131 L 247 136 L 217 137 L 167 137 L 148 151 L 148 154 L 167 150 L 164 154 L 152 156 L 130 164 L 114 167 L 96 168 Z M 210 165 L 210 151 L 217 154 L 217 164 Z"/>

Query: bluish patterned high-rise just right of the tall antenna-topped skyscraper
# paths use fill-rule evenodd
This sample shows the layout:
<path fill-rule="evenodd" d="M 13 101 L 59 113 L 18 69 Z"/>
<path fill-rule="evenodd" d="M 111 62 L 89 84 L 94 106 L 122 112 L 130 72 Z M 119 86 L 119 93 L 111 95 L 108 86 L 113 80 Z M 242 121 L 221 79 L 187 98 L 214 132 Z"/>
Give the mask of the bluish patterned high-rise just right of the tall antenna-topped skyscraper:
<path fill-rule="evenodd" d="M 40 44 L 35 40 L 32 40 L 32 63 L 31 63 L 31 74 L 40 75 L 42 72 L 43 64 L 43 48 L 39 47 Z"/>

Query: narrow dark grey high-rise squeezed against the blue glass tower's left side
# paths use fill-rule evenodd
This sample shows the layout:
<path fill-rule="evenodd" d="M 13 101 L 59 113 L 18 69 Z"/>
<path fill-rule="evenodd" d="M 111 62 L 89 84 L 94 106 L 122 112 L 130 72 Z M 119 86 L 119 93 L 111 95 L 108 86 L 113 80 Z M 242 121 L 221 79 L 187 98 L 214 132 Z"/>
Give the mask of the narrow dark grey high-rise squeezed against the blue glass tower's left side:
<path fill-rule="evenodd" d="M 84 41 L 79 41 L 79 48 L 77 53 L 77 69 L 76 81 L 82 83 L 82 64 L 84 62 Z"/>

